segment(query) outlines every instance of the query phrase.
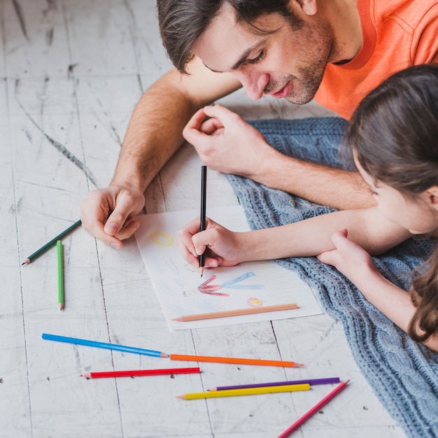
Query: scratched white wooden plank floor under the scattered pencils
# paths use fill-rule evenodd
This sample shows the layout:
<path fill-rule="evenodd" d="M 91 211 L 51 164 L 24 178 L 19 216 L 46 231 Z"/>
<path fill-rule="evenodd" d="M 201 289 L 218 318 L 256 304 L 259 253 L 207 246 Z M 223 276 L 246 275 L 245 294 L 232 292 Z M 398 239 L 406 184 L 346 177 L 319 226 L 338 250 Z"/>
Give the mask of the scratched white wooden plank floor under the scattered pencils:
<path fill-rule="evenodd" d="M 404 437 L 328 316 L 170 332 L 134 239 L 115 250 L 82 229 L 66 238 L 66 309 L 57 309 L 56 251 L 21 262 L 78 220 L 88 190 L 110 181 L 134 104 L 169 64 L 152 0 L 0 0 L 0 29 L 0 436 L 276 437 L 332 388 L 209 401 L 174 396 L 339 376 L 351 379 L 348 388 L 297 437 Z M 328 114 L 316 104 L 253 104 L 243 92 L 224 102 L 247 118 Z M 197 209 L 199 164 L 183 147 L 148 190 L 147 211 Z M 209 205 L 232 204 L 225 176 L 210 172 Z M 43 332 L 306 367 L 200 364 L 201 375 L 87 381 L 79 375 L 178 365 L 43 341 Z"/>

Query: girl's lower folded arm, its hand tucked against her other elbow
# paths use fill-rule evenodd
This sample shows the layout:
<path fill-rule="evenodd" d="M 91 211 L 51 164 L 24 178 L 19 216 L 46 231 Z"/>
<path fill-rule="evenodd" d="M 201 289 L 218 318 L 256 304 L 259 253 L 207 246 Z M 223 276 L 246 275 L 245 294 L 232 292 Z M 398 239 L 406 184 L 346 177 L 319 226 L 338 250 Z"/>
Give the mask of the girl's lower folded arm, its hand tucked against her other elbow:
<path fill-rule="evenodd" d="M 346 230 L 334 233 L 332 239 L 336 249 L 318 255 L 318 259 L 336 267 L 356 285 L 371 304 L 407 332 L 416 311 L 409 292 L 384 278 L 372 257 L 349 238 L 348 234 L 347 239 Z M 424 344 L 438 351 L 438 334 L 430 337 Z"/>

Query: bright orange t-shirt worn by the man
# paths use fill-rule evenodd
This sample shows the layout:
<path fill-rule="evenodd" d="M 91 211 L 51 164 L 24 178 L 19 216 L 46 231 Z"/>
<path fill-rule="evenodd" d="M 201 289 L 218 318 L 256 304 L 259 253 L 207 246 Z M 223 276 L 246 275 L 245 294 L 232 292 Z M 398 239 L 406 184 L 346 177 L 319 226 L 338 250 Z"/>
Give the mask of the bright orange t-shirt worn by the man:
<path fill-rule="evenodd" d="M 438 62 L 437 0 L 358 0 L 362 48 L 350 62 L 327 64 L 315 100 L 346 119 L 393 73 Z"/>

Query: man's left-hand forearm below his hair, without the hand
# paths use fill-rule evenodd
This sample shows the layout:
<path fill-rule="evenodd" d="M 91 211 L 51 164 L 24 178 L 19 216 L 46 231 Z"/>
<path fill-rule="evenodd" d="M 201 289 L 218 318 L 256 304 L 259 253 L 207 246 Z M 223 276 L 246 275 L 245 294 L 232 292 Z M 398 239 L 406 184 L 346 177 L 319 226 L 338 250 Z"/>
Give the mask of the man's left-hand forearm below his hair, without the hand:
<path fill-rule="evenodd" d="M 230 75 L 206 69 L 199 60 L 188 70 L 188 76 L 169 71 L 143 94 L 129 121 L 111 184 L 146 190 L 183 144 L 183 128 L 190 117 L 240 85 Z"/>

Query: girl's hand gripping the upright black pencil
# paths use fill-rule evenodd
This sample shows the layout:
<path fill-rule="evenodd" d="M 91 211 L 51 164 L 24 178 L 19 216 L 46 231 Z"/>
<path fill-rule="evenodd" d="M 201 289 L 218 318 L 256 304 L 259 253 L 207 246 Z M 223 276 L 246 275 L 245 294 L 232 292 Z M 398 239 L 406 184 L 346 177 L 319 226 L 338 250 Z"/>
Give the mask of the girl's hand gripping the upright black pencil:
<path fill-rule="evenodd" d="M 178 231 L 178 248 L 185 261 L 199 267 L 199 255 L 206 250 L 206 268 L 234 266 L 241 262 L 240 237 L 244 233 L 236 233 L 222 227 L 210 218 L 206 218 L 206 229 L 199 232 L 199 218 L 190 221 Z"/>

